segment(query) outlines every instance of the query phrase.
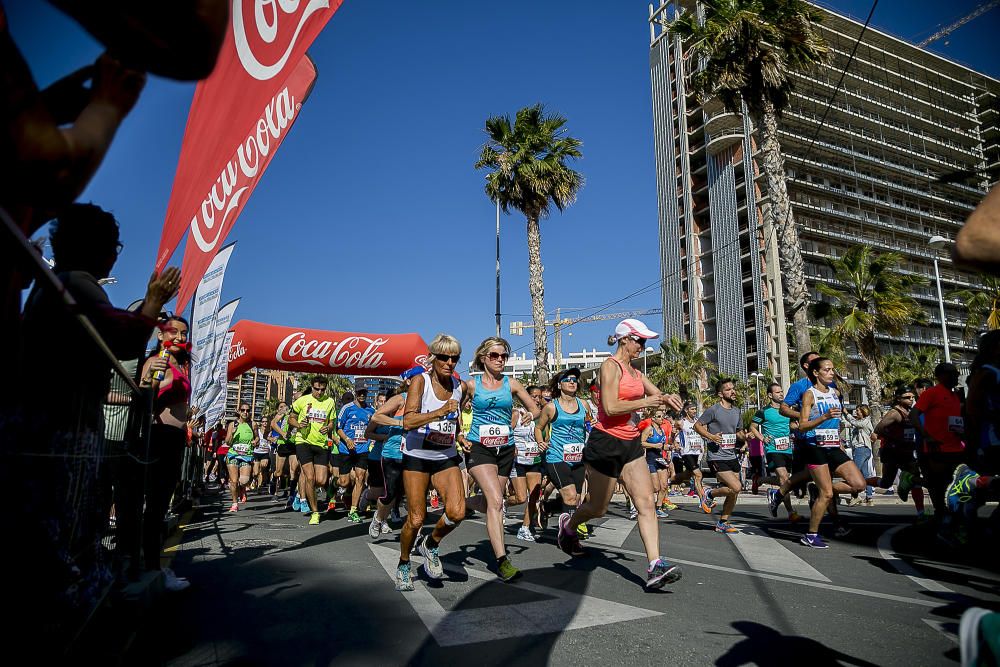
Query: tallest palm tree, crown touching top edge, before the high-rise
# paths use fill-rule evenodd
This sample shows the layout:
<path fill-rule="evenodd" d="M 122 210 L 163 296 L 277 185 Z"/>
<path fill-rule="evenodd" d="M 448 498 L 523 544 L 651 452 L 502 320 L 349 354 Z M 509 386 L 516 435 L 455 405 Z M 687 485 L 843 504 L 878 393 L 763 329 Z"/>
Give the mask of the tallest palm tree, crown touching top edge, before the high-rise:
<path fill-rule="evenodd" d="M 760 132 L 785 304 L 801 354 L 809 349 L 811 298 L 785 184 L 778 118 L 788 106 L 791 73 L 807 72 L 830 58 L 830 48 L 816 29 L 822 15 L 803 0 L 702 0 L 702 4 L 703 22 L 694 12 L 686 12 L 669 30 L 689 40 L 691 57 L 703 63 L 691 74 L 691 90 L 702 101 L 718 96 L 730 113 L 743 113 L 745 104 Z"/>

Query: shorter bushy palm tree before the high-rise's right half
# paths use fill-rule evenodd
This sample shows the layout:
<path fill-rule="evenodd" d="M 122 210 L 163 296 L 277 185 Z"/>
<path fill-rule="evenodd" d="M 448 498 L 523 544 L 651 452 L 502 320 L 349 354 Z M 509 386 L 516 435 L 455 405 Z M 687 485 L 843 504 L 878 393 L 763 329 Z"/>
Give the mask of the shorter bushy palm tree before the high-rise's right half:
<path fill-rule="evenodd" d="M 899 273 L 903 259 L 895 252 L 876 254 L 869 245 L 853 246 L 830 260 L 840 286 L 820 283 L 819 291 L 832 301 L 819 301 L 813 309 L 820 319 L 831 319 L 840 340 L 854 343 L 865 364 L 873 420 L 882 417 L 884 358 L 876 334 L 900 335 L 907 325 L 924 319 L 924 310 L 910 295 L 910 288 L 926 285 L 927 278 Z"/>

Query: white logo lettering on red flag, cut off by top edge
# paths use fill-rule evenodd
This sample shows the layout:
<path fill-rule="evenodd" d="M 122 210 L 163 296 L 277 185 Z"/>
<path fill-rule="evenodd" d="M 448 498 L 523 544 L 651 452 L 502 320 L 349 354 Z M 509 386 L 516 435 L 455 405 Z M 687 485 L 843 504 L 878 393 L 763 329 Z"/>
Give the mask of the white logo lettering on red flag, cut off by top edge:
<path fill-rule="evenodd" d="M 299 11 L 301 4 L 301 0 L 233 0 L 233 41 L 247 74 L 259 81 L 280 74 L 309 17 L 330 8 L 329 0 L 308 0 Z"/>

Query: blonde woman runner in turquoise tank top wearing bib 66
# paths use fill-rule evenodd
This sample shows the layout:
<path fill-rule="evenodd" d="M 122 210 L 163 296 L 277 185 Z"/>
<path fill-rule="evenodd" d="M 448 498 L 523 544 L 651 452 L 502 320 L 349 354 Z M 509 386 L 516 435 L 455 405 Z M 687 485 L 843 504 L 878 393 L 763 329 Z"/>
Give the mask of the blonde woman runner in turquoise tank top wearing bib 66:
<path fill-rule="evenodd" d="M 486 513 L 497 574 L 504 581 L 521 574 L 507 557 L 503 539 L 503 495 L 514 465 L 513 397 L 517 396 L 533 419 L 540 412 L 524 386 L 503 374 L 509 357 L 510 345 L 503 338 L 490 337 L 479 344 L 472 367 L 483 373 L 465 382 L 465 396 L 472 400 L 472 425 L 468 436 L 459 437 L 469 453 L 469 474 L 483 490 L 481 496 L 469 498 L 466 506 Z"/>

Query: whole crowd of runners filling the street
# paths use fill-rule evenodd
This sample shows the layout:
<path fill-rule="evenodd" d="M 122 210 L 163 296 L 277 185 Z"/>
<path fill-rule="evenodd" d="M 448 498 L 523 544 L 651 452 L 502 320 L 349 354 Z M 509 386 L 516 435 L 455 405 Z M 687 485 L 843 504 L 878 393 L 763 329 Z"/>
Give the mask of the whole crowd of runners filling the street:
<path fill-rule="evenodd" d="M 558 372 L 547 387 L 508 377 L 510 346 L 498 337 L 478 345 L 473 377 L 462 380 L 461 344 L 441 334 L 429 346 L 428 366 L 404 373 L 394 395 L 369 401 L 358 388 L 341 397 L 338 410 L 319 375 L 307 393 L 256 424 L 250 406 L 240 405 L 235 421 L 207 436 L 213 456 L 206 479 L 218 475 L 228 487 L 230 512 L 256 491 L 273 494 L 310 525 L 346 513 L 347 521 L 367 522 L 372 539 L 398 528 L 400 591 L 413 590 L 411 555 L 419 555 L 424 576 L 444 576 L 442 542 L 477 513 L 485 517 L 497 576 L 516 579 L 504 522 L 517 506 L 518 540 L 533 543 L 551 530 L 558 548 L 577 558 L 586 554 L 588 522 L 623 494 L 649 562 L 646 587 L 659 588 L 681 577 L 659 551 L 660 519 L 677 508 L 670 500 L 677 494 L 694 496 L 695 511 L 713 515 L 723 534 L 739 532 L 732 517 L 745 492 L 770 485 L 771 516 L 784 506 L 793 524 L 805 520 L 791 497 L 808 494 L 801 543 L 814 549 L 828 548 L 820 534 L 828 514 L 834 537 L 850 533 L 838 512 L 841 497 L 857 505 L 870 503 L 876 489 L 904 501 L 912 496 L 918 520 L 936 521 L 938 536 L 954 546 L 968 540 L 976 508 L 996 495 L 1000 332 L 983 337 L 965 400 L 955 367 L 940 364 L 935 382 L 896 388 L 874 424 L 868 406 L 845 408 L 845 381 L 815 352 L 800 359 L 804 377 L 787 391 L 771 383 L 755 412 L 740 407 L 736 382 L 722 378 L 715 402 L 699 414 L 633 367 L 657 335 L 638 320 L 618 324 L 609 338 L 614 354 L 583 391 L 576 368 Z M 439 516 L 425 528 L 428 509 Z M 558 517 L 551 527 L 550 517 Z"/>

